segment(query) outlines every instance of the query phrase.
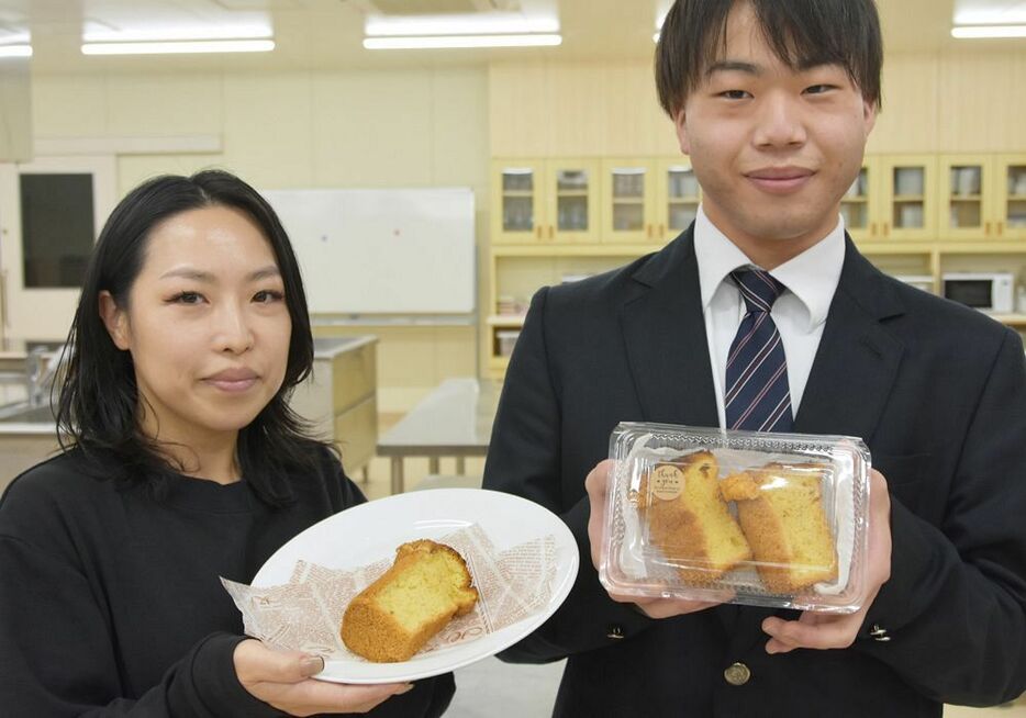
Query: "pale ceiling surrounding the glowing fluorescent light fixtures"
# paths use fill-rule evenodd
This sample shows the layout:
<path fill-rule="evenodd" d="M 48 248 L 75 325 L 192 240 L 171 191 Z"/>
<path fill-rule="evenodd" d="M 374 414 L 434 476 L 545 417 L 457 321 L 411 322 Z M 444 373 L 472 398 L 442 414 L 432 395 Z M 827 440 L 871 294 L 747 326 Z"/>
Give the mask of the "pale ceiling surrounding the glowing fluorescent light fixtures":
<path fill-rule="evenodd" d="M 0 42 L 31 31 L 35 72 L 241 69 L 345 69 L 481 65 L 494 59 L 648 59 L 656 16 L 667 0 L 0 0 Z M 1026 13 L 1026 0 L 878 0 L 886 51 L 986 52 L 1026 41 L 953 41 L 958 10 Z M 549 13 L 564 44 L 553 48 L 487 51 L 367 51 L 364 22 L 378 10 L 413 13 L 498 9 Z M 83 27 L 212 27 L 237 20 L 269 22 L 274 53 L 233 56 L 83 57 Z"/>

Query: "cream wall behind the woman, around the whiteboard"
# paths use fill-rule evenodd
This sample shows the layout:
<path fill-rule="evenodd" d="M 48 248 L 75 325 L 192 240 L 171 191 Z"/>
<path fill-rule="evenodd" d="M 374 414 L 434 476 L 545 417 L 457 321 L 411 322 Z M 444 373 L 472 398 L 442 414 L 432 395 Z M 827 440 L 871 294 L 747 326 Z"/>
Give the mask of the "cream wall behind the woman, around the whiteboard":
<path fill-rule="evenodd" d="M 475 190 L 478 243 L 487 246 L 484 68 L 36 76 L 32 87 L 37 139 L 221 137 L 214 155 L 119 157 L 119 197 L 154 175 L 203 167 L 261 189 L 464 186 Z M 381 337 L 384 412 L 477 371 L 476 327 L 317 334 L 359 332 Z"/>

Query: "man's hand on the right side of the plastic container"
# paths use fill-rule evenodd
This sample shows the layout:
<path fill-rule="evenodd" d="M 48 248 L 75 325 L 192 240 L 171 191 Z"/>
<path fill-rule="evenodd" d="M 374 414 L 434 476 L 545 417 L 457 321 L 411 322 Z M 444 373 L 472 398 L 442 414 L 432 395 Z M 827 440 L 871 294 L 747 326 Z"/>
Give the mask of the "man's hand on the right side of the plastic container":
<path fill-rule="evenodd" d="M 867 595 L 862 607 L 854 614 L 817 614 L 805 612 L 798 620 L 770 617 L 762 630 L 770 635 L 767 653 L 787 653 L 796 648 L 847 648 L 855 642 L 866 614 L 880 593 L 880 586 L 891 577 L 891 497 L 888 484 L 879 471 L 869 483 L 869 557 L 866 566 Z"/>

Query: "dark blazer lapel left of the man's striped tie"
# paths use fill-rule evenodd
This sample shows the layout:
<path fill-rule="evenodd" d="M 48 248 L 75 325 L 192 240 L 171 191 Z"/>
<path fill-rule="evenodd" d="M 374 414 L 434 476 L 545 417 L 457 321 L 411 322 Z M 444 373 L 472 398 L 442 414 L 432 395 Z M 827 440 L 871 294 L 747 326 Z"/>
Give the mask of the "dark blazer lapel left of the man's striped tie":
<path fill-rule="evenodd" d="M 692 229 L 633 279 L 621 328 L 644 419 L 718 426 Z"/>

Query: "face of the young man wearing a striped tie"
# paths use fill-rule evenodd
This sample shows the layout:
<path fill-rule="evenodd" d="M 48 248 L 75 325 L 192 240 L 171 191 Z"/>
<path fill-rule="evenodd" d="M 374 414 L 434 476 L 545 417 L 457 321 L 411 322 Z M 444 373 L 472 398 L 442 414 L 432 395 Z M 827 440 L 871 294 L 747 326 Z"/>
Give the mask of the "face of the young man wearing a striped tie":
<path fill-rule="evenodd" d="M 788 68 L 747 2 L 731 11 L 709 70 L 677 115 L 705 212 L 752 259 L 785 260 L 837 225 L 876 108 L 840 66 Z"/>

